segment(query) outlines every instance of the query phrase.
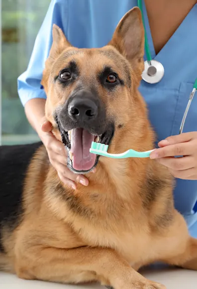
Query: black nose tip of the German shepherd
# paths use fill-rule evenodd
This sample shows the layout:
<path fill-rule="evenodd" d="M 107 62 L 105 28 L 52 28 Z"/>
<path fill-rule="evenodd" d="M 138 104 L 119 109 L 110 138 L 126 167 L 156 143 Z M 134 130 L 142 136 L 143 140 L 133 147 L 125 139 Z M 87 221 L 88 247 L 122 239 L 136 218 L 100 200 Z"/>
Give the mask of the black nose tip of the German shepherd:
<path fill-rule="evenodd" d="M 94 120 L 98 115 L 98 106 L 90 98 L 75 97 L 69 104 L 68 113 L 74 120 Z"/>

